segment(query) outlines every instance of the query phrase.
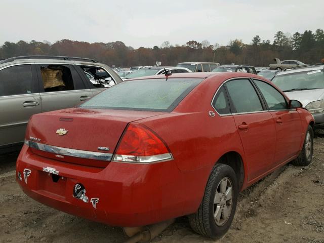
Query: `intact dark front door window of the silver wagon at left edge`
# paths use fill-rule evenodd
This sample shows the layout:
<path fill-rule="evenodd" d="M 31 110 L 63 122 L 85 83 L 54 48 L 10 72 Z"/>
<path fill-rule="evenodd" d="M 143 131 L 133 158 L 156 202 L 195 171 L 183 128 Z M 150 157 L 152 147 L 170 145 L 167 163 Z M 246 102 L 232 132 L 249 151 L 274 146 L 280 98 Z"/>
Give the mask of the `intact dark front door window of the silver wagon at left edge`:
<path fill-rule="evenodd" d="M 33 93 L 30 65 L 7 67 L 0 71 L 0 96 Z"/>

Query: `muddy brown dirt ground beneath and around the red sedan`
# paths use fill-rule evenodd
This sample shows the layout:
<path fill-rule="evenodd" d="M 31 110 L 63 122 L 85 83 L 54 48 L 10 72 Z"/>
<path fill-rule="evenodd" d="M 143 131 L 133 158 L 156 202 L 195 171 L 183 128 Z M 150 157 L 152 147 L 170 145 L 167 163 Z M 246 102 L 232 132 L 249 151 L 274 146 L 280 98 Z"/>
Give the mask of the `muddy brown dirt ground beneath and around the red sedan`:
<path fill-rule="evenodd" d="M 213 241 L 195 234 L 186 217 L 153 242 L 324 243 L 324 136 L 308 167 L 287 165 L 242 192 L 232 226 Z M 124 242 L 121 228 L 77 218 L 37 203 L 15 181 L 18 153 L 0 155 L 0 242 Z"/>

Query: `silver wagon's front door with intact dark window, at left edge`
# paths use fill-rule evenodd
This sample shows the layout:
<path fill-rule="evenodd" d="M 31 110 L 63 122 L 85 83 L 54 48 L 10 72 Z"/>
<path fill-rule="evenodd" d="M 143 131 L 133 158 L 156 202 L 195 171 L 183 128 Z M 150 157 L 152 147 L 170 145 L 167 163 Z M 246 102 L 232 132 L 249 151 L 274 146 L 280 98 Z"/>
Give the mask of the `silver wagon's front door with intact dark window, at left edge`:
<path fill-rule="evenodd" d="M 0 70 L 0 146 L 24 141 L 29 117 L 41 113 L 33 64 Z"/>

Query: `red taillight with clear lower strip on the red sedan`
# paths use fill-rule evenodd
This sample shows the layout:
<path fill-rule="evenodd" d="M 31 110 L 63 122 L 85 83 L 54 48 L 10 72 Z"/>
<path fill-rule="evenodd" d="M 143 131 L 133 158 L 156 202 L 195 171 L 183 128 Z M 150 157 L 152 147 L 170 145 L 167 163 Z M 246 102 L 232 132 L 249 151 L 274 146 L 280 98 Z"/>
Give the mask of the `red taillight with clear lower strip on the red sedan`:
<path fill-rule="evenodd" d="M 172 159 L 166 144 L 141 124 L 130 124 L 119 142 L 113 161 L 152 163 Z"/>

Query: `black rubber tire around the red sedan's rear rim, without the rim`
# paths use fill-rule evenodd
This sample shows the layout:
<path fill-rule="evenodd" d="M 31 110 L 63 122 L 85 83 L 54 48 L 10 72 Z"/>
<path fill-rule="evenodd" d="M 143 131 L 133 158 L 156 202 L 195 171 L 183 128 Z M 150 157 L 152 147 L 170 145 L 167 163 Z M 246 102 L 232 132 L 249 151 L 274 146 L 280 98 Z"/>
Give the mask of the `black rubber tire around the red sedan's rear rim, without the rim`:
<path fill-rule="evenodd" d="M 228 219 L 224 220 L 222 225 L 217 225 L 216 219 L 214 218 L 214 210 L 216 205 L 214 205 L 214 198 L 216 195 L 216 190 L 219 189 L 221 182 L 225 180 L 230 181 L 232 187 L 232 200 L 231 202 L 226 201 L 225 207 L 231 205 L 231 209 L 230 211 L 227 211 L 230 212 Z M 230 183 L 228 183 L 227 185 L 229 185 Z M 221 195 L 221 193 L 219 193 L 219 195 Z M 227 232 L 233 221 L 237 204 L 237 195 L 238 186 L 234 170 L 230 166 L 224 164 L 216 164 L 208 179 L 205 194 L 198 208 L 198 211 L 188 216 L 191 228 L 196 233 L 204 235 L 206 237 L 213 239 L 220 238 Z M 220 205 L 220 210 L 222 210 L 222 204 L 220 203 L 218 205 Z M 223 211 L 221 211 L 221 217 L 223 217 Z"/>

